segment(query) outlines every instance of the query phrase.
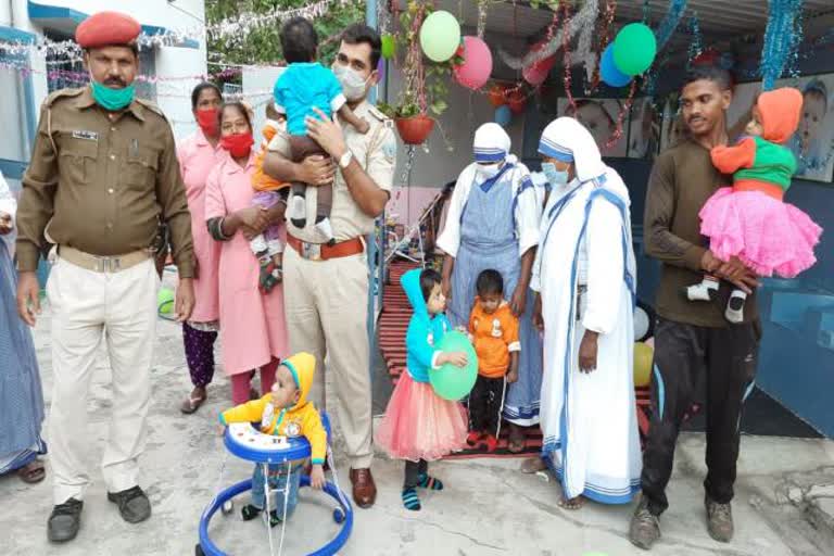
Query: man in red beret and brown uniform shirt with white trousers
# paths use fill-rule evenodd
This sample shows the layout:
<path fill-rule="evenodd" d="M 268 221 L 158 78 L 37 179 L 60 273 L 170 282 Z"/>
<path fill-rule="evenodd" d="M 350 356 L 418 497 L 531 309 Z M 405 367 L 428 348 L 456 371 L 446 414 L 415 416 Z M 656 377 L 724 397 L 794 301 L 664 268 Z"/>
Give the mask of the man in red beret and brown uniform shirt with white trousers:
<path fill-rule="evenodd" d="M 193 306 L 191 225 L 174 147 L 162 112 L 134 98 L 138 71 L 134 18 L 102 12 L 76 31 L 91 84 L 58 91 L 40 113 L 17 212 L 21 317 L 39 313 L 38 256 L 58 247 L 47 294 L 52 307 L 54 388 L 49 447 L 55 506 L 48 538 L 78 532 L 90 482 L 87 397 L 96 354 L 106 341 L 113 408 L 102 471 L 108 500 L 131 523 L 151 515 L 137 484 L 151 394 L 159 275 L 151 245 L 160 223 L 170 230 L 179 268 L 176 312 Z"/>

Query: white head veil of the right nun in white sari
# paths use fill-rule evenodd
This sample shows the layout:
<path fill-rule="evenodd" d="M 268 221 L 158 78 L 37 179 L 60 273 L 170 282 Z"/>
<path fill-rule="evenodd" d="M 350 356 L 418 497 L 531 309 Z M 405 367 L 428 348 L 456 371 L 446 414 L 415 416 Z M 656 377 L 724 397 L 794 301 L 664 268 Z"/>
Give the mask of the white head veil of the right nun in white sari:
<path fill-rule="evenodd" d="M 598 178 L 607 172 L 594 137 L 572 117 L 559 117 L 547 124 L 539 142 L 539 153 L 572 162 L 580 181 Z"/>

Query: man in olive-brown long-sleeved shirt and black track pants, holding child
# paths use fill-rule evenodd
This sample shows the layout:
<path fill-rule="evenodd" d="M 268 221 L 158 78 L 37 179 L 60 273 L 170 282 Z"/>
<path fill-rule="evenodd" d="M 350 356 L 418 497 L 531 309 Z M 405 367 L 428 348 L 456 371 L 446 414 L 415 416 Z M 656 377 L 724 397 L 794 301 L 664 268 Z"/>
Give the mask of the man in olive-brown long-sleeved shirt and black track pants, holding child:
<path fill-rule="evenodd" d="M 657 292 L 659 323 L 655 332 L 653 415 L 643 454 L 643 498 L 631 521 L 631 542 L 649 548 L 660 536 L 658 517 L 668 507 L 666 485 L 672 473 L 674 445 L 684 414 L 706 389 L 707 478 L 704 482 L 707 529 L 730 542 L 733 519 L 738 424 L 744 400 L 753 390 L 761 336 L 756 302 L 746 304 L 745 320 L 731 325 L 723 305 L 690 302 L 686 286 L 703 271 L 750 292 L 753 271 L 737 260 L 719 261 L 702 245 L 698 212 L 730 176 L 712 165 L 709 150 L 726 144 L 725 111 L 732 92 L 723 70 L 696 67 L 681 92 L 685 137 L 655 162 L 645 212 L 646 251 L 664 263 Z M 722 283 L 722 288 L 728 288 Z"/>

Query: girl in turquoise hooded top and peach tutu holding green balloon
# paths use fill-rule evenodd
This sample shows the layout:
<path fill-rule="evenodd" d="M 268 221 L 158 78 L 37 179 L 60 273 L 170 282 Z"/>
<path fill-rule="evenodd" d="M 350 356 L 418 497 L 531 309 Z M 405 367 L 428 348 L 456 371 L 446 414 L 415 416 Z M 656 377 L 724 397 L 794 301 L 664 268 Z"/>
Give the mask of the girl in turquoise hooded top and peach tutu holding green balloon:
<path fill-rule="evenodd" d="M 418 486 L 443 490 L 442 482 L 429 477 L 428 462 L 463 450 L 466 443 L 464 406 L 443 400 L 429 383 L 429 368 L 446 363 L 457 367 L 467 364 L 465 353 L 443 353 L 435 348 L 452 330 L 443 314 L 446 300 L 441 291 L 441 280 L 437 270 L 420 271 L 418 268 L 405 273 L 400 280 L 414 307 L 405 337 L 408 370 L 400 377 L 375 435 L 377 444 L 391 457 L 405 459 L 403 505 L 413 511 L 420 509 Z"/>

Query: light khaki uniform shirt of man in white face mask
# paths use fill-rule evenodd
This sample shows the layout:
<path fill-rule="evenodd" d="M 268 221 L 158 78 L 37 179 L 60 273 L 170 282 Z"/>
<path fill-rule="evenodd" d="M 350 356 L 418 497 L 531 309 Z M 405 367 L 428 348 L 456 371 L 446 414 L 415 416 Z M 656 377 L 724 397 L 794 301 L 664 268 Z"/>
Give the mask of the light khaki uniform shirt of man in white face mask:
<path fill-rule="evenodd" d="M 353 126 L 342 124 L 342 132 L 348 149 L 358 162 L 359 166 L 368 174 L 370 179 L 386 191 L 391 191 L 394 180 L 394 166 L 396 165 L 396 137 L 394 136 L 393 122 L 367 101 L 363 101 L 354 109 L 358 117 L 364 117 L 370 124 L 367 134 L 362 135 Z M 279 131 L 269 143 L 269 150 L 276 151 L 285 157 L 290 157 L 289 138 L 285 131 Z M 302 241 L 320 243 L 324 240 L 313 227 L 314 215 L 308 215 L 307 226 L 296 228 L 287 220 L 287 230 Z M 354 201 L 348 189 L 341 170 L 336 173 L 333 182 L 333 204 L 330 208 L 330 224 L 336 241 L 346 241 L 359 236 L 367 236 L 374 231 L 371 216 L 365 214 Z"/>

